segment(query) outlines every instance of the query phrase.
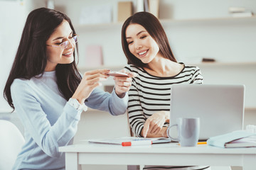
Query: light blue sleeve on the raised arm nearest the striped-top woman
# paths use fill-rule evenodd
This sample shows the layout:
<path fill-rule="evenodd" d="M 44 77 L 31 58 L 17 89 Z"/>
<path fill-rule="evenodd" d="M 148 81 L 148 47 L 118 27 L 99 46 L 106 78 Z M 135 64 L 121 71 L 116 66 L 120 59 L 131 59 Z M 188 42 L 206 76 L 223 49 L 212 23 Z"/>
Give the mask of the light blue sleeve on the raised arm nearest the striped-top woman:
<path fill-rule="evenodd" d="M 119 98 L 114 89 L 112 93 L 95 89 L 85 101 L 85 105 L 100 111 L 107 111 L 112 115 L 122 115 L 127 111 L 128 94 Z"/>

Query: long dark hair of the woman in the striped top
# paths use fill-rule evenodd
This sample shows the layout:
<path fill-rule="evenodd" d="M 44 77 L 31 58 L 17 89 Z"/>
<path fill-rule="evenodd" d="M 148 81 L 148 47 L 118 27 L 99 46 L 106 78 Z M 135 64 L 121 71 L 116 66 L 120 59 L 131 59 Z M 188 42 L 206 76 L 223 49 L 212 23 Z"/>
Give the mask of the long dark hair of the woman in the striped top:
<path fill-rule="evenodd" d="M 128 64 L 134 64 L 137 67 L 146 67 L 147 64 L 144 64 L 137 57 L 132 55 L 129 51 L 127 39 L 126 39 L 126 30 L 127 27 L 132 24 L 137 23 L 143 26 L 146 31 L 151 35 L 151 37 L 156 41 L 159 45 L 159 52 L 164 55 L 165 58 L 177 62 L 173 52 L 171 51 L 171 47 L 169 45 L 169 40 L 164 32 L 164 28 L 161 26 L 159 20 L 151 13 L 148 12 L 138 12 L 134 13 L 133 16 L 127 18 L 122 26 L 122 49 L 124 51 L 125 56 L 127 57 Z"/>

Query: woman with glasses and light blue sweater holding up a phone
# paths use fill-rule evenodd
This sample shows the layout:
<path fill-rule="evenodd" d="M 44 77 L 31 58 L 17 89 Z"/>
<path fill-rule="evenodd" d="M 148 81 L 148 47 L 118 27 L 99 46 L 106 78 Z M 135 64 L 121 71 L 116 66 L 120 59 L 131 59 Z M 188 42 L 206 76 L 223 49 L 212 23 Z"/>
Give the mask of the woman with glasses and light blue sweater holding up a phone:
<path fill-rule="evenodd" d="M 81 75 L 75 49 L 78 35 L 68 16 L 48 8 L 31 11 L 4 89 L 26 140 L 13 169 L 65 169 L 58 147 L 73 143 L 82 111 L 125 113 L 134 74 L 115 77 L 112 94 L 97 89 L 110 70 Z"/>

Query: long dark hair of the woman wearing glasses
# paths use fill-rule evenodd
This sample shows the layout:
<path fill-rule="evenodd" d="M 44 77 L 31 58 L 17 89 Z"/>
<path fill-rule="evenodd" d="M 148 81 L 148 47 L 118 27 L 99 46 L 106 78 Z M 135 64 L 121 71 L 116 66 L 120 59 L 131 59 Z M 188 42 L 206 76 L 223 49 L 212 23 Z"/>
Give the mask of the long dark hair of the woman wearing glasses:
<path fill-rule="evenodd" d="M 31 79 L 38 74 L 43 75 L 47 63 L 46 40 L 50 38 L 55 28 L 63 20 L 68 21 L 75 34 L 70 18 L 64 13 L 49 8 L 37 8 L 28 14 L 14 64 L 4 87 L 4 98 L 11 108 L 14 108 L 11 98 L 11 84 L 14 79 Z M 76 48 L 78 54 L 78 44 Z M 75 57 L 75 51 L 73 55 Z M 74 60 L 70 64 L 58 64 L 55 69 L 58 89 L 67 101 L 74 94 L 81 81 L 76 64 Z"/>

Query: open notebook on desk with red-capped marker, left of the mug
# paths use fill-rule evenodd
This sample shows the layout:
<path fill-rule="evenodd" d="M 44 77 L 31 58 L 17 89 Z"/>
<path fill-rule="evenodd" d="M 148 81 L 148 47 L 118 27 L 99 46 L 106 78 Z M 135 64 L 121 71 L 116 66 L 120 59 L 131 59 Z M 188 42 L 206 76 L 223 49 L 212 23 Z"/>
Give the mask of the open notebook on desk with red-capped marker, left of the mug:
<path fill-rule="evenodd" d="M 151 145 L 151 144 L 166 143 L 166 142 L 171 142 L 171 139 L 166 137 L 153 137 L 153 138 L 116 137 L 116 138 L 110 138 L 110 139 L 92 139 L 87 141 L 90 143 L 122 145 L 125 147 L 125 146 L 132 146 L 132 145 Z"/>

